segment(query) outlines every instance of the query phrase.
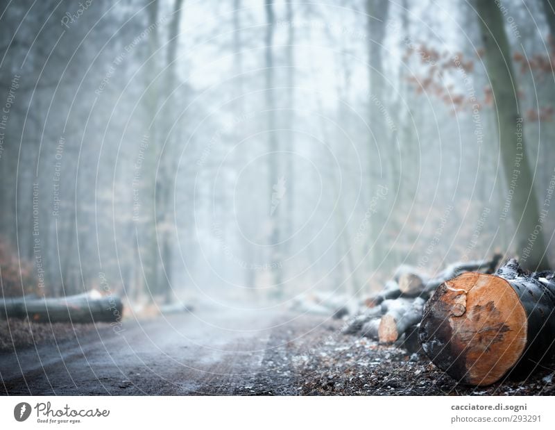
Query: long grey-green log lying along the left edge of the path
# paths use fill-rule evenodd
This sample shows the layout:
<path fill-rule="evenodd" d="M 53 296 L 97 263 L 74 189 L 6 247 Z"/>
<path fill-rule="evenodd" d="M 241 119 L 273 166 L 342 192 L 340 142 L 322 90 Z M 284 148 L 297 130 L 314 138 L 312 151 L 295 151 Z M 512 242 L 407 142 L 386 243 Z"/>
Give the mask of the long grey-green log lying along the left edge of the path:
<path fill-rule="evenodd" d="M 115 296 L 98 297 L 90 293 L 64 298 L 4 299 L 0 301 L 0 318 L 29 318 L 35 322 L 117 322 L 123 304 Z"/>

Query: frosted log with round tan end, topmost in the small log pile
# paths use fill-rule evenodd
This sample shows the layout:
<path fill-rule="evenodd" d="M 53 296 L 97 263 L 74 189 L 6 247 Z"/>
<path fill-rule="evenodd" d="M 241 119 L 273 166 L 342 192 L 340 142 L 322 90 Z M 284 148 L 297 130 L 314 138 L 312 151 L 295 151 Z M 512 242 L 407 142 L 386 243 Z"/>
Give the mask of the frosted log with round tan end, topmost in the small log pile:
<path fill-rule="evenodd" d="M 501 254 L 495 254 L 492 258 L 486 260 L 453 263 L 434 277 L 422 274 L 418 270 L 410 272 L 408 269 L 405 269 L 399 275 L 399 289 L 402 295 L 405 296 L 416 297 L 421 295 L 427 297 L 447 279 L 452 279 L 463 272 L 495 272 L 501 258 Z"/>

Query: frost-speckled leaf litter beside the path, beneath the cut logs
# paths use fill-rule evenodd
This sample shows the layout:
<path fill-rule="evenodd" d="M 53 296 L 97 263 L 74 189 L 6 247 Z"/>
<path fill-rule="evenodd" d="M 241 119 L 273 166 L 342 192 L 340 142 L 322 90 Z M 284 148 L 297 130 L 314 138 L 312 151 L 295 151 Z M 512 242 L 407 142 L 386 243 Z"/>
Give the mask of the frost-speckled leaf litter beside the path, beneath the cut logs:
<path fill-rule="evenodd" d="M 538 366 L 524 379 L 506 378 L 488 387 L 469 387 L 456 383 L 423 354 L 409 354 L 357 336 L 328 336 L 313 354 L 300 358 L 301 395 L 555 394 L 555 361 Z"/>

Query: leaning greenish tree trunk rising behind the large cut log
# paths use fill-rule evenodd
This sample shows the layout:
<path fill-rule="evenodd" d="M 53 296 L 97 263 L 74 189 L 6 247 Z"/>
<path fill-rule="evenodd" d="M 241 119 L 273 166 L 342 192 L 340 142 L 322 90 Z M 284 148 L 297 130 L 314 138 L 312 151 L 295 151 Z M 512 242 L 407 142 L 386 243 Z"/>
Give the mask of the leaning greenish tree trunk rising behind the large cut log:
<path fill-rule="evenodd" d="M 494 94 L 505 183 L 506 188 L 513 192 L 512 199 L 507 200 L 506 204 L 510 205 L 509 215 L 516 226 L 514 241 L 524 267 L 545 270 L 548 268 L 544 256 L 545 242 L 527 147 L 524 144 L 523 120 L 518 106 L 517 85 L 504 19 L 494 1 L 477 1 L 476 4 L 484 41 L 486 70 Z"/>

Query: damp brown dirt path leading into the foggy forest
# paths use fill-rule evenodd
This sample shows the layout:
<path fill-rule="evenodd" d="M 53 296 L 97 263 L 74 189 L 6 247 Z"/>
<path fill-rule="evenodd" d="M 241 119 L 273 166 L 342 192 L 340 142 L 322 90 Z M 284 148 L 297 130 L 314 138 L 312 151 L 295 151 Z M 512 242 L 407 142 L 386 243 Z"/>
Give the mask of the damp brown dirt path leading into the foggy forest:
<path fill-rule="evenodd" d="M 115 330 L 99 325 L 57 345 L 0 354 L 0 393 L 291 395 L 300 390 L 293 362 L 311 339 L 332 329 L 323 322 L 277 311 L 213 310 L 126 321 Z"/>

